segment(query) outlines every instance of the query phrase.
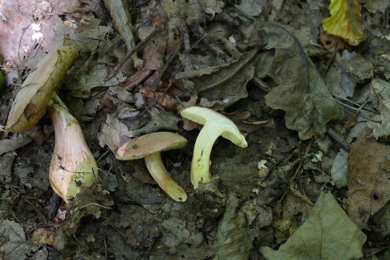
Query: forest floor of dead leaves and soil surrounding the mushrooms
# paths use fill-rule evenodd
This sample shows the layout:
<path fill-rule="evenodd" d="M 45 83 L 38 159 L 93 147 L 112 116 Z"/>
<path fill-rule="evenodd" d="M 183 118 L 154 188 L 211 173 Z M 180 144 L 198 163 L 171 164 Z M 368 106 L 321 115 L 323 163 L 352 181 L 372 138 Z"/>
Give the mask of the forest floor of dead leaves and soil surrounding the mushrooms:
<path fill-rule="evenodd" d="M 38 62 L 73 46 L 58 94 L 99 169 L 65 204 L 50 117 L 0 132 L 0 259 L 390 259 L 389 1 L 338 2 L 0 0 L 0 128 Z M 248 144 L 203 128 L 212 180 L 197 189 L 191 106 Z M 116 160 L 162 131 L 188 140 L 161 153 L 184 202 L 144 160 Z"/>

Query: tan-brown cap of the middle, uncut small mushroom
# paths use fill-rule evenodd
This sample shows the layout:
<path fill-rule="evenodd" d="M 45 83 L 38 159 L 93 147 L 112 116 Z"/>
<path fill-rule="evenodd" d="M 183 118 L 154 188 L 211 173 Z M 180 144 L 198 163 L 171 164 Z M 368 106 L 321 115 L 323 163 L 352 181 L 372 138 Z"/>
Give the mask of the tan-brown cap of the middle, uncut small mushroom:
<path fill-rule="evenodd" d="M 187 139 L 171 132 L 156 132 L 137 137 L 119 147 L 117 160 L 136 160 L 156 152 L 183 148 Z"/>

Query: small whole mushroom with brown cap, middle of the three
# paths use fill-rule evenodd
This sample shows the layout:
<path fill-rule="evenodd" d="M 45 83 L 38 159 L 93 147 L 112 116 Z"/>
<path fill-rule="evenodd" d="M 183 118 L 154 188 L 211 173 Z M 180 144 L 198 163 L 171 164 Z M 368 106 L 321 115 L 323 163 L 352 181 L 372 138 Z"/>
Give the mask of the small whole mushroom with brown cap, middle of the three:
<path fill-rule="evenodd" d="M 117 160 L 136 160 L 144 158 L 150 175 L 161 189 L 173 200 L 184 202 L 187 194 L 172 179 L 161 160 L 161 152 L 183 148 L 187 140 L 175 133 L 156 132 L 140 136 L 123 144 L 117 150 Z"/>

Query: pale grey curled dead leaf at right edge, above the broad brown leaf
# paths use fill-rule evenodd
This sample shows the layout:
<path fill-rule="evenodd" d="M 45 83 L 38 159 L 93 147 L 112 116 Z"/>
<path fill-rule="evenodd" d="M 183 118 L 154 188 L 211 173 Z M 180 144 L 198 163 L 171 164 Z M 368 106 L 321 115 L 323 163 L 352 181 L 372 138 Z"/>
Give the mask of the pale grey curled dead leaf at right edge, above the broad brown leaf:
<path fill-rule="evenodd" d="M 372 79 L 372 89 L 379 98 L 380 123 L 368 121 L 367 126 L 372 128 L 372 136 L 388 137 L 390 135 L 390 83 L 384 80 Z"/>

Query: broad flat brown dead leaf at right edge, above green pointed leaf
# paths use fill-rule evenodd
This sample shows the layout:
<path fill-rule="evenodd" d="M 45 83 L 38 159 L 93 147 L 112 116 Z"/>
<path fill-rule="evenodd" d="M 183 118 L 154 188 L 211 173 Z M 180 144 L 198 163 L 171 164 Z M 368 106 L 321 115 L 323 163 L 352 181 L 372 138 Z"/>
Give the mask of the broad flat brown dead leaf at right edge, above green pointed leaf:
<path fill-rule="evenodd" d="M 359 228 L 390 200 L 390 149 L 371 138 L 366 127 L 348 157 L 348 216 Z"/>

